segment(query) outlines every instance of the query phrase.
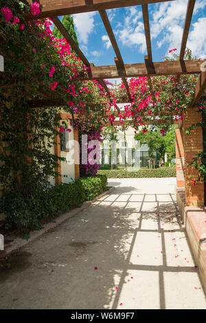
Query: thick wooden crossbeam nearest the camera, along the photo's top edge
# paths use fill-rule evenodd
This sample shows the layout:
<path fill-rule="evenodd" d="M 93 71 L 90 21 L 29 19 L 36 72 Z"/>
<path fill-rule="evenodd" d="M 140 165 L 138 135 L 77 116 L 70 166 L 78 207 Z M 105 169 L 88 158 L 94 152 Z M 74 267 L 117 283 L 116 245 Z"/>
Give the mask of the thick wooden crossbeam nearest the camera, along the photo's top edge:
<path fill-rule="evenodd" d="M 38 19 L 54 16 L 65 16 L 66 14 L 79 14 L 81 12 L 92 12 L 114 8 L 130 7 L 131 5 L 145 5 L 148 3 L 157 3 L 174 0 L 39 0 L 41 4 L 41 13 Z M 34 19 L 32 14 L 28 14 L 26 19 Z"/>

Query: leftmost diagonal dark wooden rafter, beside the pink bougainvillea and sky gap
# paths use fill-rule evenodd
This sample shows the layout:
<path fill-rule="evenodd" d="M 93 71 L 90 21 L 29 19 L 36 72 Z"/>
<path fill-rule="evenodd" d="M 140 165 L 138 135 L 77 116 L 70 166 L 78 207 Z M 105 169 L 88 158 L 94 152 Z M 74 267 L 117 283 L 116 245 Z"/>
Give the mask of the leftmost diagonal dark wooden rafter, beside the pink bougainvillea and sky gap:
<path fill-rule="evenodd" d="M 73 38 L 69 35 L 69 33 L 65 29 L 64 25 L 62 25 L 58 17 L 55 17 L 53 20 L 54 20 L 54 25 L 56 25 L 56 27 L 58 28 L 62 36 L 64 36 L 65 39 L 68 41 L 69 45 L 74 50 L 74 52 L 76 52 L 77 56 L 81 58 L 84 65 L 87 65 L 89 67 L 90 66 L 89 61 L 84 56 L 84 54 L 82 53 L 78 45 L 75 43 L 75 41 L 73 41 Z"/>

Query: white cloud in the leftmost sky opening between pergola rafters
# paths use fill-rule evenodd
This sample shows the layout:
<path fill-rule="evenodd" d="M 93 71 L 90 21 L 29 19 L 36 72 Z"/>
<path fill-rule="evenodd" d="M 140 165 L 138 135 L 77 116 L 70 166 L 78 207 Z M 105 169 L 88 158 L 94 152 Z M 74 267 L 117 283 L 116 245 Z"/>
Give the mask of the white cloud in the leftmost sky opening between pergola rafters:
<path fill-rule="evenodd" d="M 73 14 L 73 23 L 76 27 L 78 40 L 80 41 L 80 43 L 88 43 L 89 34 L 91 34 L 94 27 L 93 16 L 95 14 L 96 12 Z"/>

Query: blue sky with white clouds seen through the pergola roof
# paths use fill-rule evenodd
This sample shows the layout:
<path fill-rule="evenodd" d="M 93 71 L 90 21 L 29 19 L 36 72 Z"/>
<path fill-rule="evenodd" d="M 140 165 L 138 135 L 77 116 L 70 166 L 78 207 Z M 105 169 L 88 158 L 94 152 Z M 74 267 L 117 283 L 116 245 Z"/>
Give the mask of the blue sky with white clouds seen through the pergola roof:
<path fill-rule="evenodd" d="M 181 45 L 187 0 L 148 5 L 152 58 L 161 61 L 169 49 Z M 106 10 L 124 63 L 144 62 L 146 41 L 141 5 Z M 111 46 L 99 12 L 73 14 L 80 49 L 90 63 L 114 65 Z M 206 0 L 196 0 L 187 46 L 194 55 L 206 58 Z"/>

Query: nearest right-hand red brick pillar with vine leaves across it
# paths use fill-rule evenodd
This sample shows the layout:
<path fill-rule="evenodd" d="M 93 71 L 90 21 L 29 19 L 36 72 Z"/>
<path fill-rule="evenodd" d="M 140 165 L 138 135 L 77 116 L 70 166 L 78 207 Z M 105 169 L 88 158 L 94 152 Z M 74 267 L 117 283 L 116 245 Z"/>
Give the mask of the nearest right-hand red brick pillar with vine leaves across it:
<path fill-rule="evenodd" d="M 192 124 L 202 121 L 202 115 L 196 107 L 187 107 L 183 117 L 183 130 Z M 203 151 L 203 129 L 201 126 L 191 131 L 190 135 L 185 133 L 185 193 L 187 205 L 204 205 L 204 183 L 192 185 L 192 180 L 198 179 L 198 170 L 193 166 L 187 166 L 196 154 Z"/>

